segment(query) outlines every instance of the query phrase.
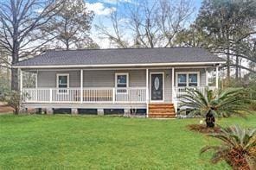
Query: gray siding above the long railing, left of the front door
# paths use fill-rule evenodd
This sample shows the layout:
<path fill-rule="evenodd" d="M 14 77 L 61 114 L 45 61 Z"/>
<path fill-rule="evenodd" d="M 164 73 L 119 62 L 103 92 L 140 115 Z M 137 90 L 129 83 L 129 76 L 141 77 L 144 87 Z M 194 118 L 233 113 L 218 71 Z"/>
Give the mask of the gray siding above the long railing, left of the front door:
<path fill-rule="evenodd" d="M 84 87 L 114 87 L 115 86 L 115 72 L 129 73 L 130 87 L 145 87 L 146 78 L 145 70 L 130 70 L 130 71 L 84 71 Z M 38 87 L 39 88 L 55 88 L 56 74 L 69 73 L 69 86 L 80 87 L 80 71 L 40 71 L 38 72 Z"/>

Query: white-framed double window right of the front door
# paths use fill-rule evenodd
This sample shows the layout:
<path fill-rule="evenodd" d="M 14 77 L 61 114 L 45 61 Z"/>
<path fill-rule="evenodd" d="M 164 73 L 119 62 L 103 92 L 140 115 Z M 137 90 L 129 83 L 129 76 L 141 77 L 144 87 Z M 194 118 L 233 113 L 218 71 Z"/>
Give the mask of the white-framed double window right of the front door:
<path fill-rule="evenodd" d="M 199 72 L 176 72 L 178 87 L 199 86 Z"/>

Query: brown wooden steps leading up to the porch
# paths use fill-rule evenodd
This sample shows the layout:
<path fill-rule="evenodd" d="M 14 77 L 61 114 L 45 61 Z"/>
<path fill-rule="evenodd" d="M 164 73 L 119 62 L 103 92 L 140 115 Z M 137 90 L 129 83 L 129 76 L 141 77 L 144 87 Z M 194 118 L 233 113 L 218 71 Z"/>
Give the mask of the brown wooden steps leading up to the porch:
<path fill-rule="evenodd" d="M 149 117 L 151 118 L 175 118 L 173 104 L 149 104 Z"/>

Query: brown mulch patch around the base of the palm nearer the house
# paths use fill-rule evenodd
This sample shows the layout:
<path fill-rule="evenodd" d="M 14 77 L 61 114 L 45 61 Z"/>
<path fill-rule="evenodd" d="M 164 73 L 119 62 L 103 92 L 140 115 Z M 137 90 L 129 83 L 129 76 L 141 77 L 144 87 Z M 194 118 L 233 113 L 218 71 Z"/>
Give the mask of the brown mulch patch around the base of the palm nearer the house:
<path fill-rule="evenodd" d="M 221 128 L 218 126 L 215 126 L 214 128 L 207 128 L 205 124 L 189 124 L 187 128 L 191 131 L 200 132 L 203 134 L 209 134 L 209 133 L 220 133 Z"/>

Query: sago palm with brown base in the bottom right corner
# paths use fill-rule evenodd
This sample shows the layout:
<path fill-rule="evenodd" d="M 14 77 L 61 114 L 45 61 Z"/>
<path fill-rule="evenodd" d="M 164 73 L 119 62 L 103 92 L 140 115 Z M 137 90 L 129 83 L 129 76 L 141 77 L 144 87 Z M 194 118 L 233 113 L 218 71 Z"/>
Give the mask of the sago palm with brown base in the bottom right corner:
<path fill-rule="evenodd" d="M 256 129 L 243 129 L 240 126 L 221 129 L 218 134 L 209 136 L 221 140 L 219 146 L 202 148 L 201 154 L 214 150 L 212 163 L 226 161 L 234 169 L 250 170 L 256 166 Z"/>

